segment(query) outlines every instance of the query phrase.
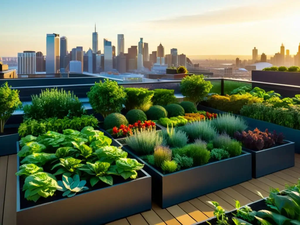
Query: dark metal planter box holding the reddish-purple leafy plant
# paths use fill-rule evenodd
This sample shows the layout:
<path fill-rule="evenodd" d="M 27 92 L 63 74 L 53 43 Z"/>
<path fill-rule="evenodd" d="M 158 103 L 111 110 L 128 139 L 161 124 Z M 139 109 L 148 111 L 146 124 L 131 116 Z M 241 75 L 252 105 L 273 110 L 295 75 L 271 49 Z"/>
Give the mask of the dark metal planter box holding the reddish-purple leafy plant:
<path fill-rule="evenodd" d="M 260 151 L 243 148 L 245 152 L 252 155 L 253 178 L 259 178 L 295 166 L 295 143 L 285 142 L 286 144 Z"/>

